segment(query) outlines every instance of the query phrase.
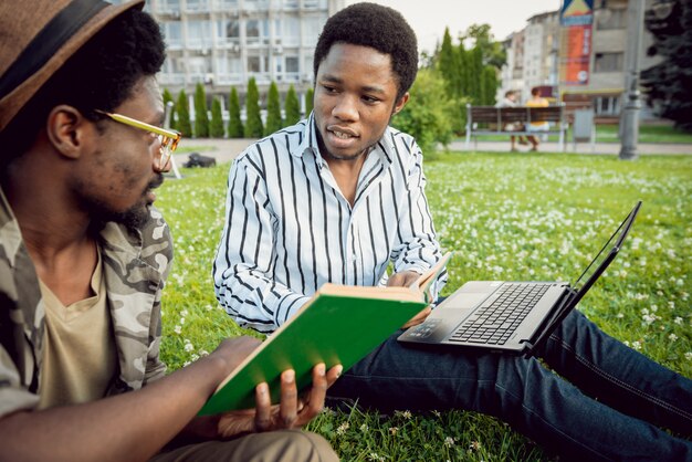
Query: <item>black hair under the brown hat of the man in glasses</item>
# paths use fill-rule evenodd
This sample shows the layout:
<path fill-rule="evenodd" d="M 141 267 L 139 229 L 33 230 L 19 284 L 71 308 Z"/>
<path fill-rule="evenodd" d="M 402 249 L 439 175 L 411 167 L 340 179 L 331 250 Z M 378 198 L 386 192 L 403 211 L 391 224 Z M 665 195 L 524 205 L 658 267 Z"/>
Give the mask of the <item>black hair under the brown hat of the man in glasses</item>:
<path fill-rule="evenodd" d="M 135 84 L 164 65 L 166 48 L 156 21 L 132 8 L 115 18 L 75 52 L 0 133 L 3 160 L 23 154 L 60 104 L 76 107 L 91 120 L 125 102 Z"/>

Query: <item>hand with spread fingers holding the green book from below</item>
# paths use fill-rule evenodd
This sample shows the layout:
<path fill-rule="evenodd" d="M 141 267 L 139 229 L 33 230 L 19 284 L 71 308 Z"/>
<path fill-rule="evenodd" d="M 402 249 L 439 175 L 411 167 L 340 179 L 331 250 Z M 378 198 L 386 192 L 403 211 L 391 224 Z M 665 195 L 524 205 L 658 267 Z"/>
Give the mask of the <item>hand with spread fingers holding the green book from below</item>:
<path fill-rule="evenodd" d="M 220 438 L 232 438 L 241 433 L 271 431 L 303 427 L 322 412 L 324 399 L 329 388 L 342 374 L 342 366 L 335 366 L 325 374 L 325 365 L 313 368 L 313 386 L 302 399 L 295 385 L 295 372 L 284 370 L 281 375 L 281 403 L 272 406 L 266 382 L 255 388 L 255 409 L 231 411 L 219 418 Z"/>

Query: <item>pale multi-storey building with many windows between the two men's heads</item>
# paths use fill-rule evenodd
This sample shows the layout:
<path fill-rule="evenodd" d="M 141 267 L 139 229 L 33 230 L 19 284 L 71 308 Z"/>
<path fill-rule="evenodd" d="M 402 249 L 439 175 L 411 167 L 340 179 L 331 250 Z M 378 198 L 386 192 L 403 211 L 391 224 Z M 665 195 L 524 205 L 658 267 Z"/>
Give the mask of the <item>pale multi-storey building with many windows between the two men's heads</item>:
<path fill-rule="evenodd" d="M 261 93 L 276 82 L 302 95 L 313 84 L 313 54 L 327 18 L 345 0 L 149 0 L 167 59 L 158 75 L 176 94 L 198 83 L 208 95 L 242 95 L 250 77 Z M 302 99 L 302 98 L 301 98 Z"/>

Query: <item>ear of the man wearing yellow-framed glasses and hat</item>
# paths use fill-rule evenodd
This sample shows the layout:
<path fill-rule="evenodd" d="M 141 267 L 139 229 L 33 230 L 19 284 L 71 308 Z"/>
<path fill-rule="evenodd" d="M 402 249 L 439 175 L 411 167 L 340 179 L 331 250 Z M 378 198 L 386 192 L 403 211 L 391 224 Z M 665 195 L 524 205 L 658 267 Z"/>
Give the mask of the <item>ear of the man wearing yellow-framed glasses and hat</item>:
<path fill-rule="evenodd" d="M 45 124 L 49 140 L 63 156 L 76 159 L 84 150 L 94 126 L 73 106 L 61 104 L 51 109 Z"/>

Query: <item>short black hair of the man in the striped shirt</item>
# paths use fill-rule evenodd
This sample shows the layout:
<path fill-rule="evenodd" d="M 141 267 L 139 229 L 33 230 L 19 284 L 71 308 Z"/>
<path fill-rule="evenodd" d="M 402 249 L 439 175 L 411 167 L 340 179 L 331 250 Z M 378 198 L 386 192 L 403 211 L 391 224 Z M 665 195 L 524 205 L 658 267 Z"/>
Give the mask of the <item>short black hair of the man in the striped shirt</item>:
<path fill-rule="evenodd" d="M 399 86 L 397 99 L 409 91 L 418 72 L 416 33 L 398 11 L 376 3 L 354 3 L 334 14 L 324 24 L 317 40 L 313 67 L 315 80 L 319 64 L 335 43 L 369 46 L 391 56 L 391 69 Z"/>

